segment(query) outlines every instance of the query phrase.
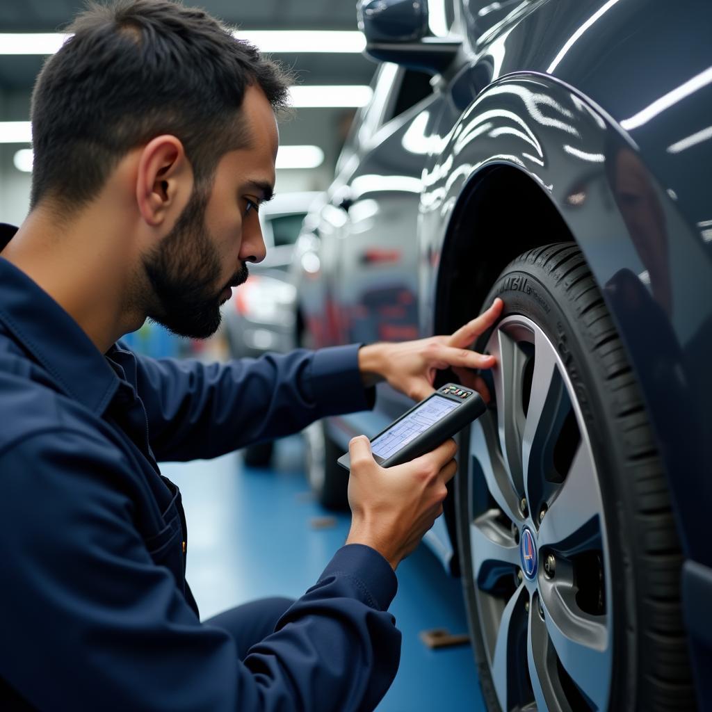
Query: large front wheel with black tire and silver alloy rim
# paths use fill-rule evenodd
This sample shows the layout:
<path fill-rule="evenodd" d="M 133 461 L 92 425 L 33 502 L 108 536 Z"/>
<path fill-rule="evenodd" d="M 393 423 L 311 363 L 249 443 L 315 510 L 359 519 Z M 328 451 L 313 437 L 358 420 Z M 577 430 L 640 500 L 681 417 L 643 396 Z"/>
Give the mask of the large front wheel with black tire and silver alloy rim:
<path fill-rule="evenodd" d="M 488 710 L 694 709 L 669 493 L 580 250 L 510 263 L 493 400 L 461 436 L 456 511 Z"/>

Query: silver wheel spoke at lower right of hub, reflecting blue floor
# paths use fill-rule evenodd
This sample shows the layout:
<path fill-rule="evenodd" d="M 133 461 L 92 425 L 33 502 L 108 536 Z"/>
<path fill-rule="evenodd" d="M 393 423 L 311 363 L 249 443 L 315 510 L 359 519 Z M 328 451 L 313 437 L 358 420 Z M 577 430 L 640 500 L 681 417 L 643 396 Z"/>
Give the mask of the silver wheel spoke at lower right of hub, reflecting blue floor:
<path fill-rule="evenodd" d="M 541 595 L 545 626 L 562 666 L 595 708 L 606 709 L 612 663 L 609 618 L 582 612 L 572 585 L 552 583 Z"/>

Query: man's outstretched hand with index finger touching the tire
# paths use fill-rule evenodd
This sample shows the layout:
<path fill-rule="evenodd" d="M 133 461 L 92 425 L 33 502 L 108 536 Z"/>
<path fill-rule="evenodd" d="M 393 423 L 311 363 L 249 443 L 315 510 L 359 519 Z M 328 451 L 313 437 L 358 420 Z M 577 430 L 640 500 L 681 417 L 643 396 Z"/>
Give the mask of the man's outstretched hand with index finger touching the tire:
<path fill-rule="evenodd" d="M 483 356 L 470 347 L 474 340 L 498 320 L 504 304 L 500 298 L 477 318 L 461 326 L 450 336 L 431 336 L 397 344 L 378 343 L 359 350 L 359 368 L 364 384 L 371 386 L 386 380 L 395 389 L 414 400 L 422 400 L 433 391 L 436 372 L 452 367 L 464 386 L 475 389 L 487 402 L 489 392 L 473 369 L 491 368 L 495 357 Z"/>

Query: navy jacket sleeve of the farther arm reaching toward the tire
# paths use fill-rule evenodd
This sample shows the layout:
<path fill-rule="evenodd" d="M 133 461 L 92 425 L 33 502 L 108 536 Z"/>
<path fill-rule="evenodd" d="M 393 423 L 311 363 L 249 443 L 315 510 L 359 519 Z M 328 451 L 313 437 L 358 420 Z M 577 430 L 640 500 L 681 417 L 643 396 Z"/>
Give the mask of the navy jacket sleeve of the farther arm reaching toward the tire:
<path fill-rule="evenodd" d="M 224 364 L 136 356 L 156 458 L 207 459 L 298 432 L 328 415 L 372 408 L 358 348 L 295 350 Z"/>

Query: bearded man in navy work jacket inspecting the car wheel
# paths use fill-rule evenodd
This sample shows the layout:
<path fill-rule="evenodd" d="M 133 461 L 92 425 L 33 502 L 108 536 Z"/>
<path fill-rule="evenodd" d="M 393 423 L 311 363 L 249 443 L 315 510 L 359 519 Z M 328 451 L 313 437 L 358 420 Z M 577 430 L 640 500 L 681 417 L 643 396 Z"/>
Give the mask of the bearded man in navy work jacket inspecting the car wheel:
<path fill-rule="evenodd" d="M 378 380 L 419 399 L 438 369 L 466 379 L 493 365 L 468 347 L 501 301 L 450 337 L 222 365 L 132 354 L 117 340 L 146 318 L 214 333 L 265 256 L 290 78 L 169 0 L 90 6 L 70 32 L 33 93 L 30 213 L 0 234 L 0 708 L 370 710 L 399 661 L 394 570 L 441 513 L 454 442 L 384 471 L 352 440 L 352 525 L 318 582 L 204 623 L 157 461 L 366 409 Z"/>

